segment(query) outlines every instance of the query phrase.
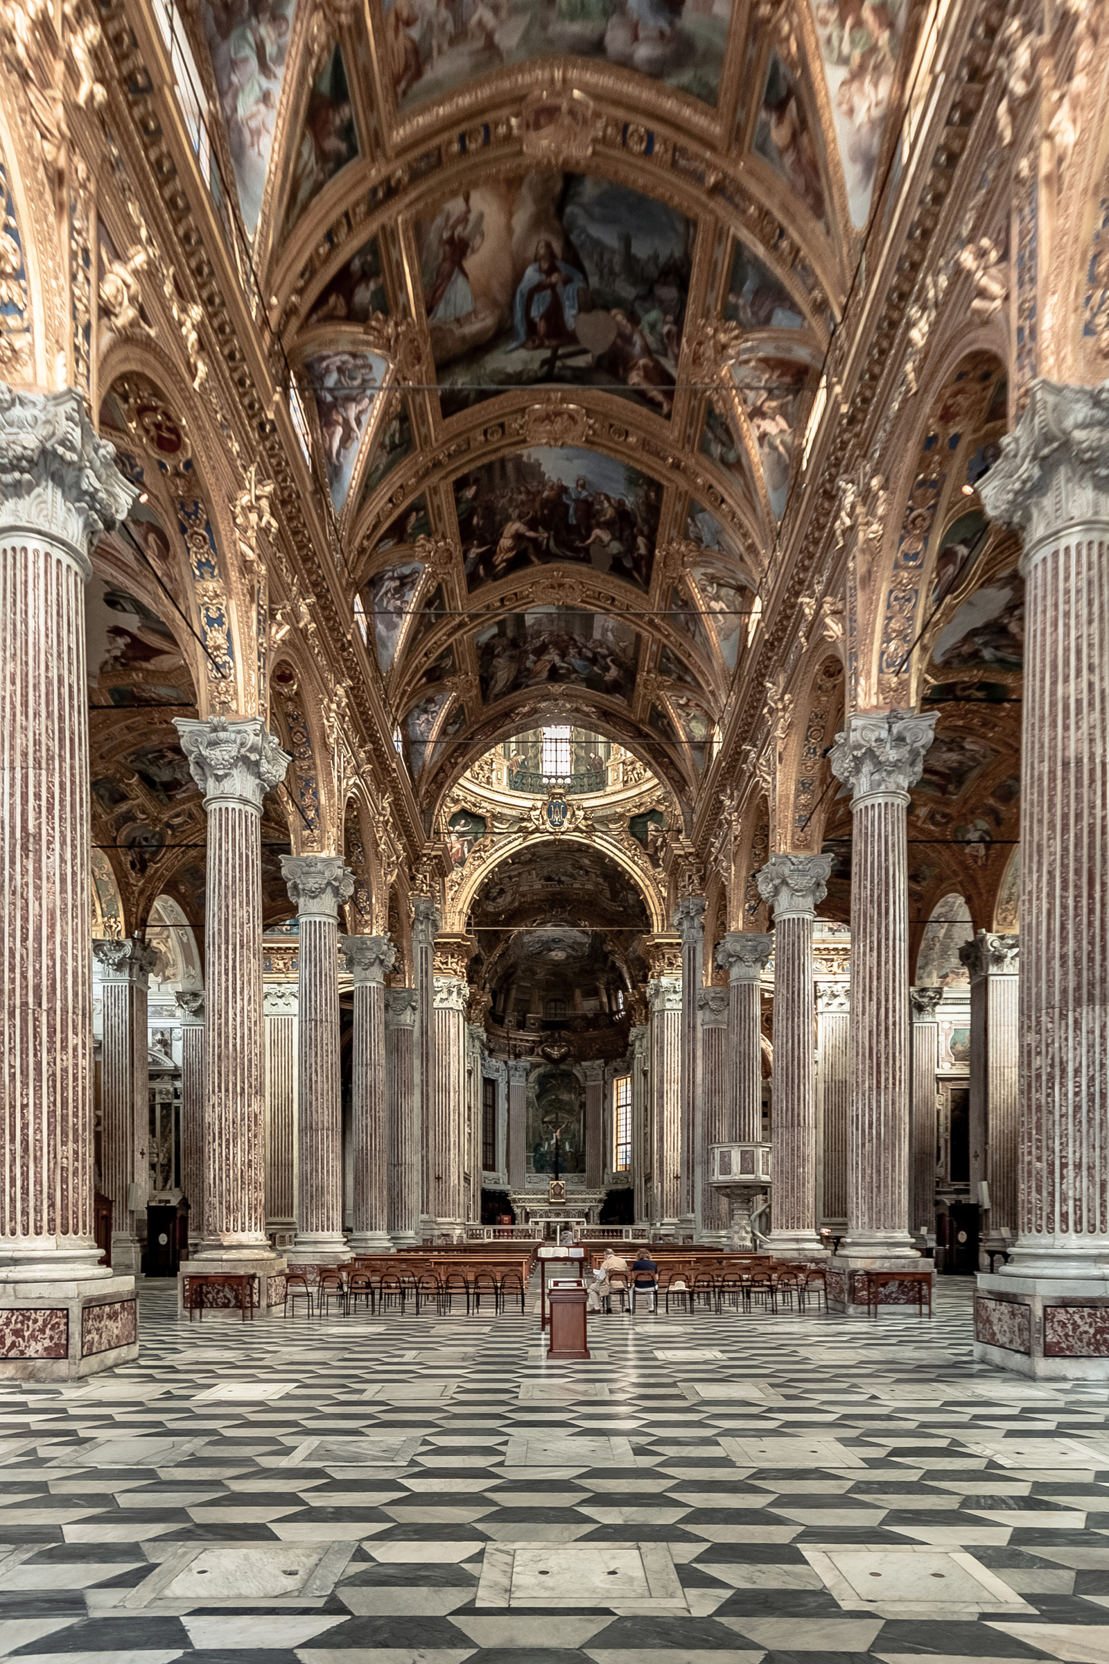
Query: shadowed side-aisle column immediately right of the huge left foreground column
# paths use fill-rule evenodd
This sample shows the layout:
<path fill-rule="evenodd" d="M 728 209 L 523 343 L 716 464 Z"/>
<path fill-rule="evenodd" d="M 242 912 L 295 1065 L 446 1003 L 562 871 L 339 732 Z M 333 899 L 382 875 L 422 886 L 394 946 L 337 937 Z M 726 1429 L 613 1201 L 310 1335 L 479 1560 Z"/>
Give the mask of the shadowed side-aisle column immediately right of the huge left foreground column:
<path fill-rule="evenodd" d="M 150 1193 L 150 1080 L 146 995 L 158 963 L 138 937 L 93 942 L 103 1005 L 100 1166 L 111 1198 L 111 1265 L 140 1271 Z"/>

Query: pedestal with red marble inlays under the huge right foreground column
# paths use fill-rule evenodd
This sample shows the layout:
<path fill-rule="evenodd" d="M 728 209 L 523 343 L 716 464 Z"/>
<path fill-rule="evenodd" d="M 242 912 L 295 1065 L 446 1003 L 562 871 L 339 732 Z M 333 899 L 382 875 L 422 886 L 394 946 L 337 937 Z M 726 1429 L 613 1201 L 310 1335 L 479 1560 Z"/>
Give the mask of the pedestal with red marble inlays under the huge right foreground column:
<path fill-rule="evenodd" d="M 979 1273 L 974 1359 L 1054 1381 L 1109 1381 L 1109 1265 L 1101 1276 Z"/>

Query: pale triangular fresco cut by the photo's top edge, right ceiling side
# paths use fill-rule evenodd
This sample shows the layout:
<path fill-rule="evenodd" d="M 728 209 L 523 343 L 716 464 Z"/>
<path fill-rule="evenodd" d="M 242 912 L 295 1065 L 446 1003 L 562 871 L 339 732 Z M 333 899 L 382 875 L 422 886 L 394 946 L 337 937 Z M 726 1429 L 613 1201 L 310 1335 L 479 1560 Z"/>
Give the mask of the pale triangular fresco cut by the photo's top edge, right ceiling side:
<path fill-rule="evenodd" d="M 865 226 L 908 0 L 811 0 L 851 223 Z"/>

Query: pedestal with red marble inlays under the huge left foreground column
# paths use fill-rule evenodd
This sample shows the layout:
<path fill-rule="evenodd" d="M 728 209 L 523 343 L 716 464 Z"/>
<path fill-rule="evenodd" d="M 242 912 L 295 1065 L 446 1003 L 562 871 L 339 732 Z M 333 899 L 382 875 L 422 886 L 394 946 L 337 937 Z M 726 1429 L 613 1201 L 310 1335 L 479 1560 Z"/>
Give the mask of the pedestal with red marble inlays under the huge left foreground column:
<path fill-rule="evenodd" d="M 75 1381 L 135 1358 L 133 1276 L 0 1285 L 0 1381 Z"/>

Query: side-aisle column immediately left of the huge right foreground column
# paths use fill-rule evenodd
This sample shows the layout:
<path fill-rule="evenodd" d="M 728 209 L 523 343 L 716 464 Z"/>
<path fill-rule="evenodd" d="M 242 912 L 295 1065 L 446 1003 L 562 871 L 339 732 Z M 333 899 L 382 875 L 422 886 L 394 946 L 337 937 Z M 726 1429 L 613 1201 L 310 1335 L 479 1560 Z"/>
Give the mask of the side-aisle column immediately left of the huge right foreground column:
<path fill-rule="evenodd" d="M 971 1201 L 981 1180 L 989 1188 L 983 1250 L 1011 1248 L 1016 1238 L 1019 947 L 1016 935 L 979 930 L 959 948 L 971 978 Z"/>

